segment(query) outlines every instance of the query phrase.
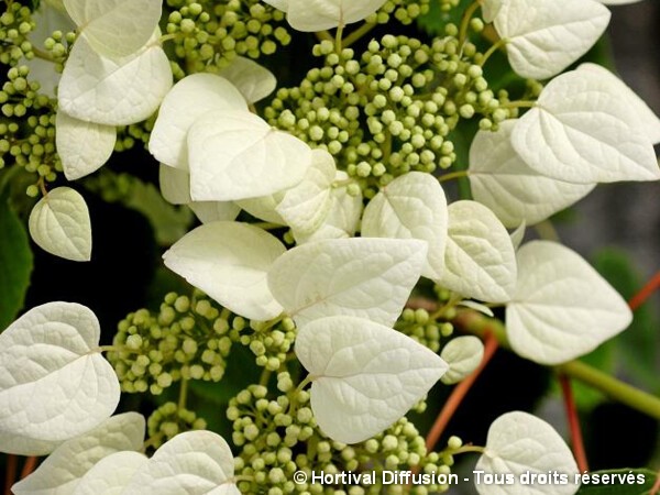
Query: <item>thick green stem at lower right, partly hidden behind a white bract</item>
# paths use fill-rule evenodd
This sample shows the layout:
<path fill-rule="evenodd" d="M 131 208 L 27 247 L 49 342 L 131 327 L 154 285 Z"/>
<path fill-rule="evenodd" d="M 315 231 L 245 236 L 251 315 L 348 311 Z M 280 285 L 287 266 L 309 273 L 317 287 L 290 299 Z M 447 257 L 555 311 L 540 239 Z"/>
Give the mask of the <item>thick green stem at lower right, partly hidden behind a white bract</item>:
<path fill-rule="evenodd" d="M 504 323 L 497 319 L 487 318 L 473 310 L 460 310 L 453 322 L 463 330 L 481 337 L 491 331 L 503 348 L 510 349 Z M 556 366 L 556 371 L 579 380 L 601 391 L 606 396 L 660 420 L 659 397 L 609 376 L 582 361 L 576 360 L 560 364 Z"/>

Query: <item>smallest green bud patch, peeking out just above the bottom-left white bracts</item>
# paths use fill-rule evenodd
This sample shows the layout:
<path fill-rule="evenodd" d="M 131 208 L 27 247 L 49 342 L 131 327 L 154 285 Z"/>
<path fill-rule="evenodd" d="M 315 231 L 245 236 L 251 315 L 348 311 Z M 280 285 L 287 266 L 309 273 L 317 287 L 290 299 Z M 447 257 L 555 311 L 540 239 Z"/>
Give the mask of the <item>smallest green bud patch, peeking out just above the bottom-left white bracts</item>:
<path fill-rule="evenodd" d="M 195 411 L 179 409 L 175 403 L 165 403 L 154 410 L 146 421 L 147 444 L 156 450 L 178 433 L 191 430 L 205 430 L 207 422 L 198 418 Z"/>

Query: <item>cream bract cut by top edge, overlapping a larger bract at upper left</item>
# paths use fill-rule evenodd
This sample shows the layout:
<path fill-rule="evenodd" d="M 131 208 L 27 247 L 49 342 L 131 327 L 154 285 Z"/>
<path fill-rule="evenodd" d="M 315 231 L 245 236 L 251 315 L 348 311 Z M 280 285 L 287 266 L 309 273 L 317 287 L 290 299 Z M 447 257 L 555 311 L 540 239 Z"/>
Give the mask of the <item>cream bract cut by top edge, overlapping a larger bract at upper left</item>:
<path fill-rule="evenodd" d="M 163 10 L 160 0 L 64 0 L 64 6 L 89 45 L 110 57 L 139 51 Z"/>

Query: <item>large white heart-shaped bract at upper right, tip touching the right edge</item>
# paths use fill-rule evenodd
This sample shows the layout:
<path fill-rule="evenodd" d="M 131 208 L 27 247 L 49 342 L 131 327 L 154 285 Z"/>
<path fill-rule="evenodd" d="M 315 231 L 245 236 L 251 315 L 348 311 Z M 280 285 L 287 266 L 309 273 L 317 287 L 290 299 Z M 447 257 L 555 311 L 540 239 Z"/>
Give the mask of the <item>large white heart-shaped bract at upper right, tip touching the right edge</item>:
<path fill-rule="evenodd" d="M 657 180 L 660 168 L 637 107 L 598 70 L 552 79 L 512 133 L 539 174 L 575 184 Z"/>

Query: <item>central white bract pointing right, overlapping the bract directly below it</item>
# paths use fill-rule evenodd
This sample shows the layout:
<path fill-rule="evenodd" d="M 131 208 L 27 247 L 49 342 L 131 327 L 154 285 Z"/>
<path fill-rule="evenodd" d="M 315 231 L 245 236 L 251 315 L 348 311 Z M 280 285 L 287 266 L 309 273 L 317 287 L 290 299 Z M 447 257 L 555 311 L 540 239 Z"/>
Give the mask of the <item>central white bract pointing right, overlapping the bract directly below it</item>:
<path fill-rule="evenodd" d="M 393 326 L 426 261 L 427 243 L 398 239 L 331 239 L 282 255 L 268 287 L 301 327 L 334 315 Z"/>

